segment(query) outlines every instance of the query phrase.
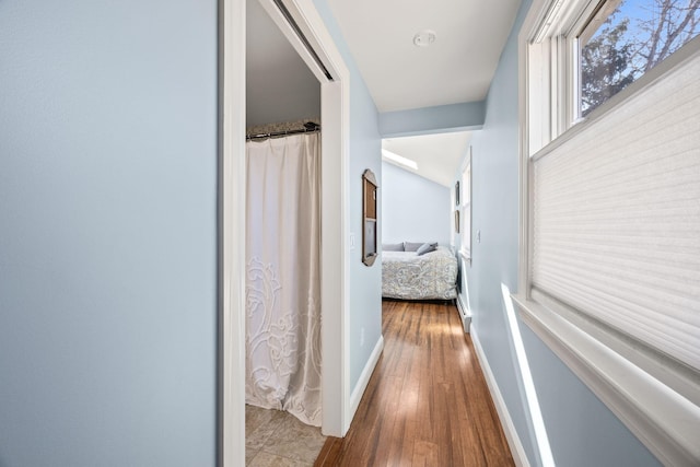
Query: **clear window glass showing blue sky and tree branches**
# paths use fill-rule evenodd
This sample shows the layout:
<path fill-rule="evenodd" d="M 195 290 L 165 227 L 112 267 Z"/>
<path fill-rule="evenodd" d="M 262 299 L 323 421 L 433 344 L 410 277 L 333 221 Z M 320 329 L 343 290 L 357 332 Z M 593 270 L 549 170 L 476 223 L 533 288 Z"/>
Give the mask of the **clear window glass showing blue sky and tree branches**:
<path fill-rule="evenodd" d="M 611 13 L 604 8 L 598 14 L 602 24 L 594 21 L 599 26 L 581 44 L 582 116 L 700 32 L 700 0 L 622 0 Z"/>

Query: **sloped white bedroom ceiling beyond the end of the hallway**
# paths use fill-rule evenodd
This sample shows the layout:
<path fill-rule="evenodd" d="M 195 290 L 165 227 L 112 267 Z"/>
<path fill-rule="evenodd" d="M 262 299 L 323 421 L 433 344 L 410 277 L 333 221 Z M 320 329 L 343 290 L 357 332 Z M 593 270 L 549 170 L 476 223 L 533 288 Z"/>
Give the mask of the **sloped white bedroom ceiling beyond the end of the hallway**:
<path fill-rule="evenodd" d="M 440 185 L 451 187 L 459 168 L 459 162 L 467 153 L 470 139 L 470 131 L 389 138 L 382 141 L 382 149 L 415 161 L 418 170 L 396 164 L 387 159 L 383 160 Z"/>

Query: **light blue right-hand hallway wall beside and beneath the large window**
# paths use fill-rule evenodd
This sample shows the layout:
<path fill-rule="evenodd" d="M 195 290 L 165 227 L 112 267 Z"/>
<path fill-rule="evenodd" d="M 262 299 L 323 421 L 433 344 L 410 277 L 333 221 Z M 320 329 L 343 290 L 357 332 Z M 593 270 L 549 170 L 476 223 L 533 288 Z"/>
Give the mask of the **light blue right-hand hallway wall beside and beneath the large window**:
<path fill-rule="evenodd" d="M 532 377 L 556 465 L 654 466 L 657 460 L 520 319 L 509 318 L 501 285 L 517 288 L 518 255 L 518 57 L 517 34 L 530 1 L 524 1 L 487 98 L 483 129 L 472 145 L 471 246 L 466 270 L 472 338 L 482 347 L 529 463 L 542 465 L 524 382 Z M 455 180 L 459 174 L 455 174 Z M 466 300 L 466 296 L 463 297 Z M 515 346 L 522 334 L 527 366 Z"/>

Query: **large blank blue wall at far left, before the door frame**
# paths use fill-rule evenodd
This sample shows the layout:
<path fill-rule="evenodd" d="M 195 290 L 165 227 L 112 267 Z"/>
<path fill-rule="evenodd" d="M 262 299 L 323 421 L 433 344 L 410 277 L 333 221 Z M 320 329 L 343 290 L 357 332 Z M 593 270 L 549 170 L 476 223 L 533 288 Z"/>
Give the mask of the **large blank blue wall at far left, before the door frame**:
<path fill-rule="evenodd" d="M 212 466 L 217 2 L 0 2 L 0 465 Z"/>

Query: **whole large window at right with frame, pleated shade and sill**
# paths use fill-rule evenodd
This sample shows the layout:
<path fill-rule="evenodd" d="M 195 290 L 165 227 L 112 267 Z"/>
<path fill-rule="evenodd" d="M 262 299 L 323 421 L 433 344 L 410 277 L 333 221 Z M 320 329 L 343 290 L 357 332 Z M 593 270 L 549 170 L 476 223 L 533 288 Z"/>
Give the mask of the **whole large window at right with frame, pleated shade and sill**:
<path fill-rule="evenodd" d="M 700 464 L 699 7 L 535 0 L 520 37 L 514 301 L 666 465 Z"/>

